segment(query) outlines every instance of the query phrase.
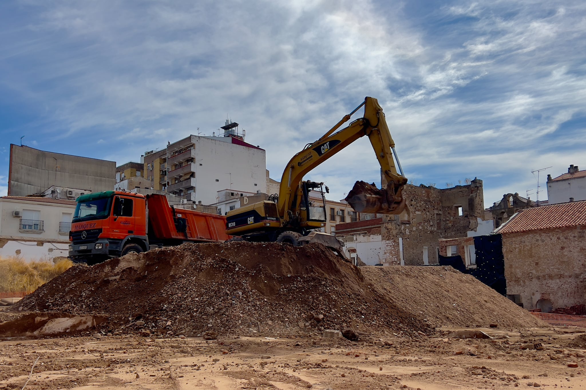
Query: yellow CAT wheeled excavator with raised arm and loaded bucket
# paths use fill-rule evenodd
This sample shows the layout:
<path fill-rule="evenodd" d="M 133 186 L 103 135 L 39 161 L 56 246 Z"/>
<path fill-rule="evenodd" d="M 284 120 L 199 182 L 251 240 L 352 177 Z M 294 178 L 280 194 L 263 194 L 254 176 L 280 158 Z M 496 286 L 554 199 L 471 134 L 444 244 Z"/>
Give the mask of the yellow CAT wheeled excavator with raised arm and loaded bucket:
<path fill-rule="evenodd" d="M 336 132 L 362 106 L 363 118 L 354 120 L 349 126 Z M 346 197 L 346 202 L 357 212 L 400 214 L 405 207 L 401 191 L 407 178 L 404 177 L 398 161 L 383 109 L 377 99 L 366 97 L 362 104 L 345 115 L 320 139 L 307 144 L 291 158 L 283 172 L 278 194 L 268 196 L 266 201 L 228 212 L 227 233 L 247 241 L 278 241 L 294 246 L 311 241 L 322 242 L 330 247 L 339 246 L 339 241 L 334 236 L 313 232 L 326 225 L 324 185 L 320 182 L 303 181 L 303 177 L 363 136 L 369 137 L 379 160 L 383 172 L 383 188 L 378 189 L 374 184 L 357 181 Z M 393 154 L 400 174 L 397 173 Z M 314 191 L 313 199 L 309 196 L 311 191 Z M 329 193 L 327 186 L 325 192 Z M 316 194 L 319 195 L 316 197 Z M 316 201 L 316 198 L 321 199 Z"/>

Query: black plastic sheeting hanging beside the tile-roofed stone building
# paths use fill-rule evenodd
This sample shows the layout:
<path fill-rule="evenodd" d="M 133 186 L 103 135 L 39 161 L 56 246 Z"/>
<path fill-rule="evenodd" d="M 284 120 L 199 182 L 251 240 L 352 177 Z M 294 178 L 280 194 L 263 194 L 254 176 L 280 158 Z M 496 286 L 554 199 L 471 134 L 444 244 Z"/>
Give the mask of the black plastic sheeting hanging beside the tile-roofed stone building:
<path fill-rule="evenodd" d="M 505 258 L 503 240 L 500 234 L 474 237 L 476 250 L 476 269 L 466 269 L 461 256 L 445 257 L 440 255 L 440 265 L 451 265 L 456 270 L 471 274 L 473 277 L 506 296 Z"/>

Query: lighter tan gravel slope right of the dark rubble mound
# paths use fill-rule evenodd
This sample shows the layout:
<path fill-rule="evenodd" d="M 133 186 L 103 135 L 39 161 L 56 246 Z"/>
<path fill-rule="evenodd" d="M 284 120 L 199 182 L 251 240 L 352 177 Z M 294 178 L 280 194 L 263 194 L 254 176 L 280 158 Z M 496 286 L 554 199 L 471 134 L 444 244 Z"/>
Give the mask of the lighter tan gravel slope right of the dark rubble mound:
<path fill-rule="evenodd" d="M 545 322 L 452 267 L 362 267 L 372 290 L 431 326 L 546 327 Z"/>

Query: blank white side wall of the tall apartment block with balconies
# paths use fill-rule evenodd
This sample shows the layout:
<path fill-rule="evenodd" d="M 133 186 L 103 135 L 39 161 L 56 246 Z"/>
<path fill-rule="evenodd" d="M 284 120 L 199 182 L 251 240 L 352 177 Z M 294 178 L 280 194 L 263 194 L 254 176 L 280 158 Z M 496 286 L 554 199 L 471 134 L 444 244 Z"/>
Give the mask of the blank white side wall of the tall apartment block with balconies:
<path fill-rule="evenodd" d="M 267 170 L 263 149 L 230 143 L 229 137 L 191 137 L 196 151 L 193 161 L 196 202 L 216 203 L 217 191 L 225 188 L 252 193 L 265 191 Z"/>

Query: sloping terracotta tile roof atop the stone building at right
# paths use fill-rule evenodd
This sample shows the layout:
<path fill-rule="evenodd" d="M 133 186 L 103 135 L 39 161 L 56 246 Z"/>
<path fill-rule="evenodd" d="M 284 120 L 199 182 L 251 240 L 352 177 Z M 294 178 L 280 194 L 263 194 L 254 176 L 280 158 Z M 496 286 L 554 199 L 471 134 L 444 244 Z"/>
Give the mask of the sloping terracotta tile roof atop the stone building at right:
<path fill-rule="evenodd" d="M 520 210 L 495 232 L 527 232 L 578 225 L 586 225 L 586 201 L 558 203 Z"/>

